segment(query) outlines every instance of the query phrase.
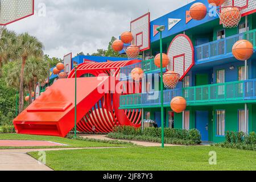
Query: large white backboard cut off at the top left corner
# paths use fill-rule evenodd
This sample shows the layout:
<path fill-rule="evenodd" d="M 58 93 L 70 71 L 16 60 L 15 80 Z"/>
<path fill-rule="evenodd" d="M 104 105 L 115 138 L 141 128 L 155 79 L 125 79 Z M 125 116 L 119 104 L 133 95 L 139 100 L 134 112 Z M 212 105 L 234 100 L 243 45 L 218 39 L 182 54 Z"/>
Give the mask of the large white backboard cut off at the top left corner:
<path fill-rule="evenodd" d="M 1 0 L 0 26 L 34 15 L 34 0 Z"/>

